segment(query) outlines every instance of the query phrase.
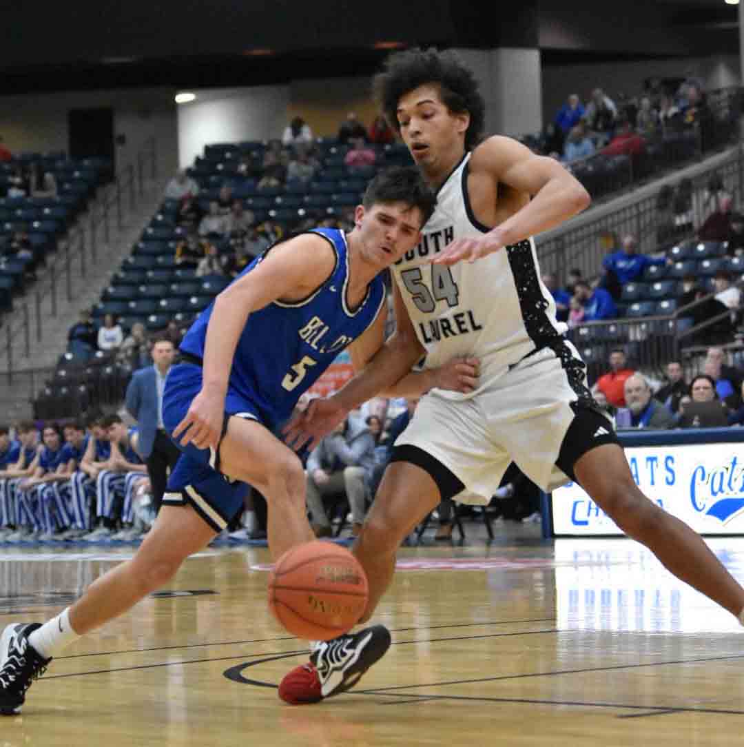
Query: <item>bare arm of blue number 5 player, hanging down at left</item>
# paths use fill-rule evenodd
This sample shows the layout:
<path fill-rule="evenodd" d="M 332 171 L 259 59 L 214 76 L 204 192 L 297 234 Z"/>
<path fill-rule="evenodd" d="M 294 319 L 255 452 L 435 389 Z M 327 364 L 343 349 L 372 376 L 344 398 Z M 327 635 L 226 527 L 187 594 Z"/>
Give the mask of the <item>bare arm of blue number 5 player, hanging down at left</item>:
<path fill-rule="evenodd" d="M 334 267 L 335 252 L 328 241 L 304 234 L 273 247 L 256 267 L 217 295 L 207 326 L 202 390 L 173 438 L 199 449 L 217 446 L 232 359 L 248 315 L 277 299 L 308 296 Z"/>

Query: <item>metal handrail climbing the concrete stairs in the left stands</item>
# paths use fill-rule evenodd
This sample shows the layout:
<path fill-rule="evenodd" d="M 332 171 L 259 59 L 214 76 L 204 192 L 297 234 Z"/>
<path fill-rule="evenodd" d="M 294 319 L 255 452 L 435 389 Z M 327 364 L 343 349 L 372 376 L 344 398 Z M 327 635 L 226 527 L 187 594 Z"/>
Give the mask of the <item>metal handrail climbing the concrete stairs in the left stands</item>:
<path fill-rule="evenodd" d="M 37 288 L 14 303 L 13 311 L 6 314 L 0 343 L 0 368 L 4 368 L 8 384 L 13 382 L 14 375 L 25 373 L 13 368 L 14 344 L 21 340 L 23 356 L 28 358 L 32 338 L 36 342 L 41 341 L 43 318 L 58 315 L 58 297 L 63 294 L 68 303 L 72 302 L 72 273 L 84 278 L 88 267 L 97 263 L 96 235 L 99 231 L 102 231 L 103 241 L 108 244 L 113 221 L 116 221 L 119 230 L 123 228 L 125 203 L 128 202 L 129 213 L 137 208 L 137 199 L 141 199 L 145 193 L 147 171 L 151 179 L 157 179 L 155 137 L 150 138 L 137 153 L 137 163 L 125 167 L 114 179 L 113 185 L 105 187 L 103 195 L 91 202 L 85 224 L 78 221 L 68 232 L 63 248 L 57 249 L 53 258 L 49 255 L 46 257 L 50 263 L 46 277 L 37 284 Z M 36 312 L 33 325 L 29 312 L 31 303 Z"/>

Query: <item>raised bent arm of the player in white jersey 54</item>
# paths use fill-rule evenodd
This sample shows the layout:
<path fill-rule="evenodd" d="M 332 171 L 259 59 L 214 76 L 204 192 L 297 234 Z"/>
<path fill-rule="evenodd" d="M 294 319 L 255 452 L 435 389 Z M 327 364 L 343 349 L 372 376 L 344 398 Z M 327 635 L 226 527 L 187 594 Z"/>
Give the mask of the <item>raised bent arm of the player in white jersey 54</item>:
<path fill-rule="evenodd" d="M 485 173 L 533 197 L 494 229 L 477 239 L 457 239 L 435 255 L 435 264 L 475 261 L 559 226 L 589 206 L 591 198 L 580 182 L 553 158 L 535 155 L 510 137 L 489 137 L 474 150 L 471 174 Z"/>

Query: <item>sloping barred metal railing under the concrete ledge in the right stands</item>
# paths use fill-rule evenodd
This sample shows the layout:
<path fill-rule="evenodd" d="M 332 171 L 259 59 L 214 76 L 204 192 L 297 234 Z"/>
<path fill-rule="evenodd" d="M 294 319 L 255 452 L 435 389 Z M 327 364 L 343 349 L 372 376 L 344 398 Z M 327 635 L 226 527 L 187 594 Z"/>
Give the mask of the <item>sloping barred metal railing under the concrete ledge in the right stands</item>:
<path fill-rule="evenodd" d="M 689 237 L 710 213 L 704 195 L 713 174 L 722 179 L 725 190 L 734 196 L 734 203 L 744 198 L 744 149 L 740 146 L 731 161 L 704 170 L 692 178 L 686 187 L 689 199 L 685 197 L 686 206 L 679 212 L 675 211 L 674 202 L 678 194 L 659 190 L 639 197 L 611 214 L 561 232 L 554 238 L 538 237 L 542 270 L 564 278 L 571 267 L 578 267 L 585 277 L 592 278 L 601 275 L 604 255 L 613 246 L 617 248 L 617 241 L 626 233 L 636 236 L 639 252 L 646 254 L 666 249 L 675 241 Z M 680 184 L 681 180 L 669 187 L 678 193 Z M 667 204 L 664 200 L 668 198 L 671 199 Z"/>

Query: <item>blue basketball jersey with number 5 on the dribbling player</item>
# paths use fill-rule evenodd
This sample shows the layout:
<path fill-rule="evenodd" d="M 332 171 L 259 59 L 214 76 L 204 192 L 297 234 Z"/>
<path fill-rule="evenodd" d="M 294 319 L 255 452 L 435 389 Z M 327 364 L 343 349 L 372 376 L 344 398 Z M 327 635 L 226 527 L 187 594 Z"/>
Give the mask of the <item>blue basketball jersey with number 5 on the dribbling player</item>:
<path fill-rule="evenodd" d="M 296 303 L 276 300 L 249 314 L 238 339 L 229 385 L 255 403 L 270 427 L 285 421 L 292 409 L 341 350 L 362 335 L 385 303 L 379 276 L 368 286 L 356 309 L 347 306 L 348 247 L 344 232 L 313 229 L 335 250 L 333 272 L 310 297 Z M 238 276 L 251 272 L 265 256 L 255 258 Z M 181 350 L 202 359 L 207 325 L 214 304 L 202 311 L 181 343 Z"/>

